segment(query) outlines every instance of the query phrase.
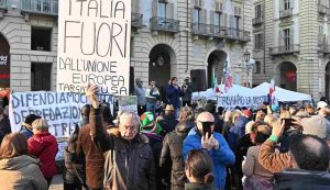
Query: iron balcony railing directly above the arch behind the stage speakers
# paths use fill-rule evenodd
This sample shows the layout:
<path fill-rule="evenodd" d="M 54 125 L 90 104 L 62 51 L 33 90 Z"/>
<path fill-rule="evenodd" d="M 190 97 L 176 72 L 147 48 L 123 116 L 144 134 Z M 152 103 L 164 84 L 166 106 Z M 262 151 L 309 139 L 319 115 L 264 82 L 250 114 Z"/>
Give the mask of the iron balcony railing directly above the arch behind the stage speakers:
<path fill-rule="evenodd" d="M 152 18 L 150 20 L 151 30 L 178 32 L 179 21 L 166 18 Z"/>

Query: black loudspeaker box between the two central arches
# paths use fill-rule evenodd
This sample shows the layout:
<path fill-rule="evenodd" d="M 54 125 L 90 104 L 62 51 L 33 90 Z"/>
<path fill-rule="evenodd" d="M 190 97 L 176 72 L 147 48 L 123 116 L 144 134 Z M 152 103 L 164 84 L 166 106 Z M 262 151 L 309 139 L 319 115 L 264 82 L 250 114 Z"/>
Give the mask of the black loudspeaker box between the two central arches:
<path fill-rule="evenodd" d="M 206 91 L 206 70 L 205 69 L 194 69 L 190 70 L 190 78 L 193 83 L 193 91 Z"/>

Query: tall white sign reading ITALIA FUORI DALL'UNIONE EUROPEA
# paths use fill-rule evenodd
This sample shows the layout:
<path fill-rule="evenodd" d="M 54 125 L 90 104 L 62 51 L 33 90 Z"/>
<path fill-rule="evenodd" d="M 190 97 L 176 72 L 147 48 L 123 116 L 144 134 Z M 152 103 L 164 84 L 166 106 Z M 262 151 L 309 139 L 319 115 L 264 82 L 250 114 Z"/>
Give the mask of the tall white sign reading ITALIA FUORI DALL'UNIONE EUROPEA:
<path fill-rule="evenodd" d="M 131 1 L 59 0 L 57 91 L 129 94 Z"/>

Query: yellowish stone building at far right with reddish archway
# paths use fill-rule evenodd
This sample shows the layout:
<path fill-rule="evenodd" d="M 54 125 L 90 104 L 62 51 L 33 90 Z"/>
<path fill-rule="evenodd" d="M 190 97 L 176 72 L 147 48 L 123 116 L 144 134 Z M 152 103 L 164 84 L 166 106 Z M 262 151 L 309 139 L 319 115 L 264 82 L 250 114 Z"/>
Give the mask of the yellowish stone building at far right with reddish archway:
<path fill-rule="evenodd" d="M 255 0 L 253 85 L 330 97 L 330 1 Z"/>

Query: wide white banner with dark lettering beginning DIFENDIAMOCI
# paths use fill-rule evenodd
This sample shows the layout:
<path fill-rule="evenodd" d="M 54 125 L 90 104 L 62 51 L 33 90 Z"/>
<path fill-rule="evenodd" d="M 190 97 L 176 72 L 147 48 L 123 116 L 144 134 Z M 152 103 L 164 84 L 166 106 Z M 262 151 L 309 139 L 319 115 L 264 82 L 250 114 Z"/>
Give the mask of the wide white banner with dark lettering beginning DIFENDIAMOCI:
<path fill-rule="evenodd" d="M 98 94 L 109 103 L 113 113 L 113 96 Z M 36 114 L 47 121 L 50 132 L 58 137 L 69 137 L 79 123 L 81 108 L 89 103 L 82 93 L 72 92 L 14 92 L 10 96 L 9 118 L 12 132 L 21 128 L 26 115 Z"/>

